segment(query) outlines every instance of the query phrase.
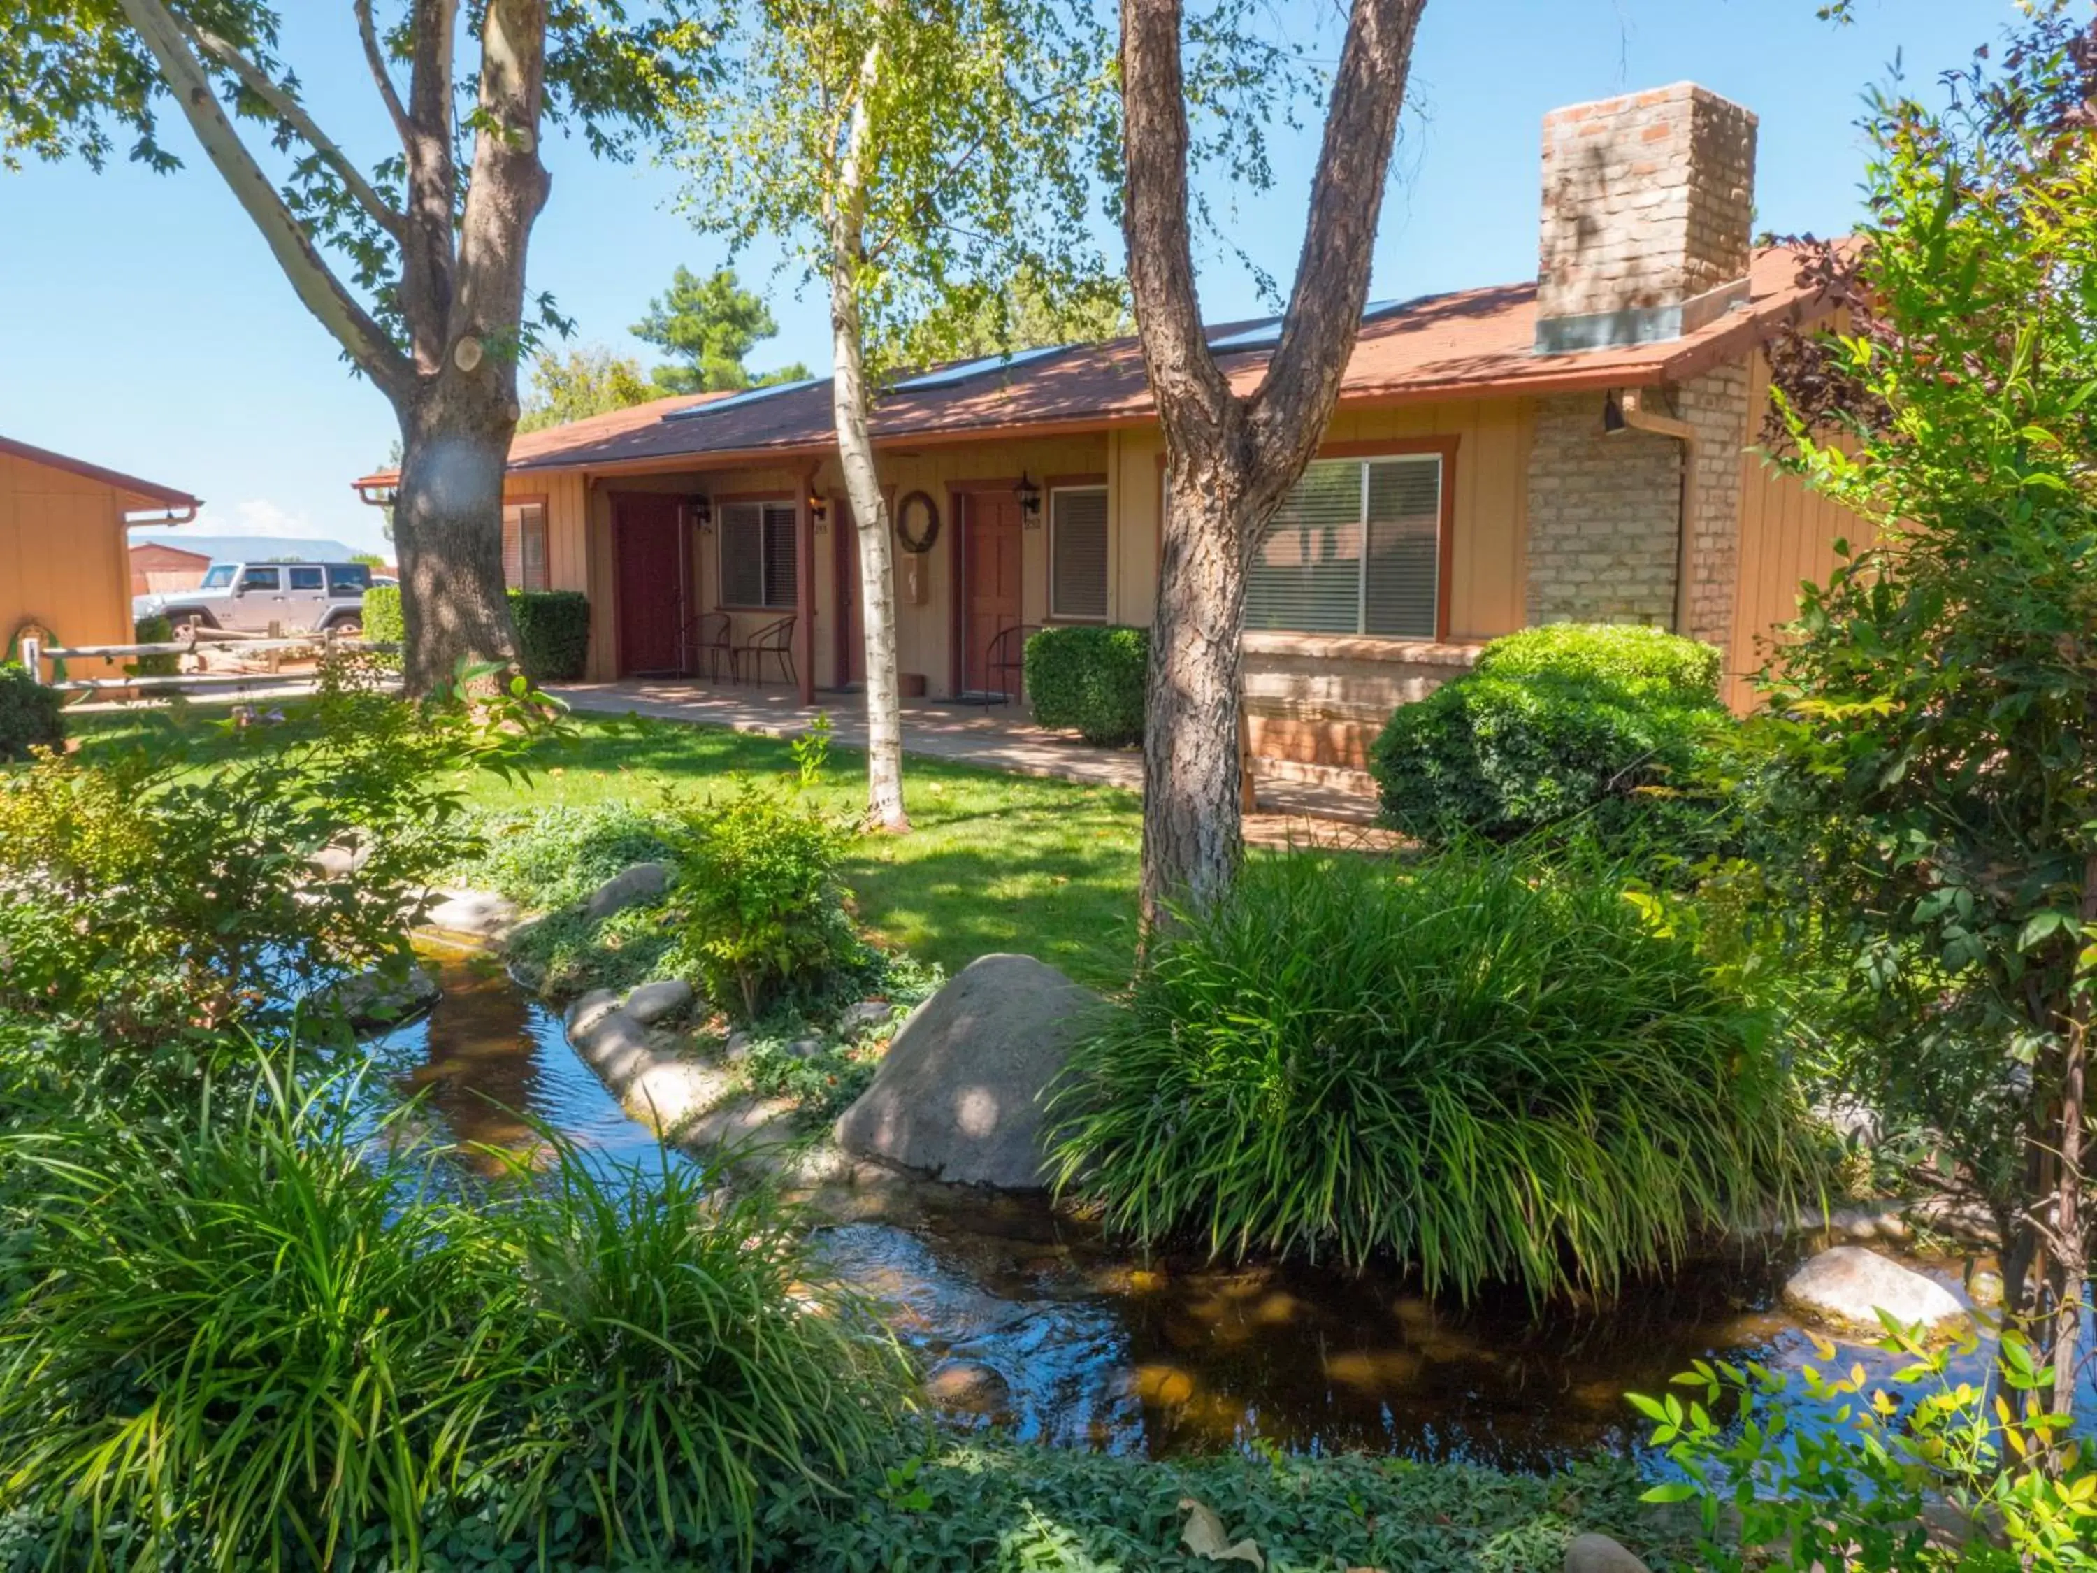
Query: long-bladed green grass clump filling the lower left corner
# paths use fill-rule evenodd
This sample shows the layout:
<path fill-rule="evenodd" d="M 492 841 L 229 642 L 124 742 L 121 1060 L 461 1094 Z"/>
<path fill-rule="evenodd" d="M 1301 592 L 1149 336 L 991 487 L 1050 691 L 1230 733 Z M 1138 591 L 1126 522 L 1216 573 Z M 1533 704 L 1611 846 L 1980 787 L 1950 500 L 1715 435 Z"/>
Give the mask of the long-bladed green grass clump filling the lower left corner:
<path fill-rule="evenodd" d="M 883 1432 L 900 1359 L 765 1198 L 558 1141 L 468 1193 L 352 1101 L 6 1143 L 0 1514 L 52 1565 L 715 1565 Z"/>

